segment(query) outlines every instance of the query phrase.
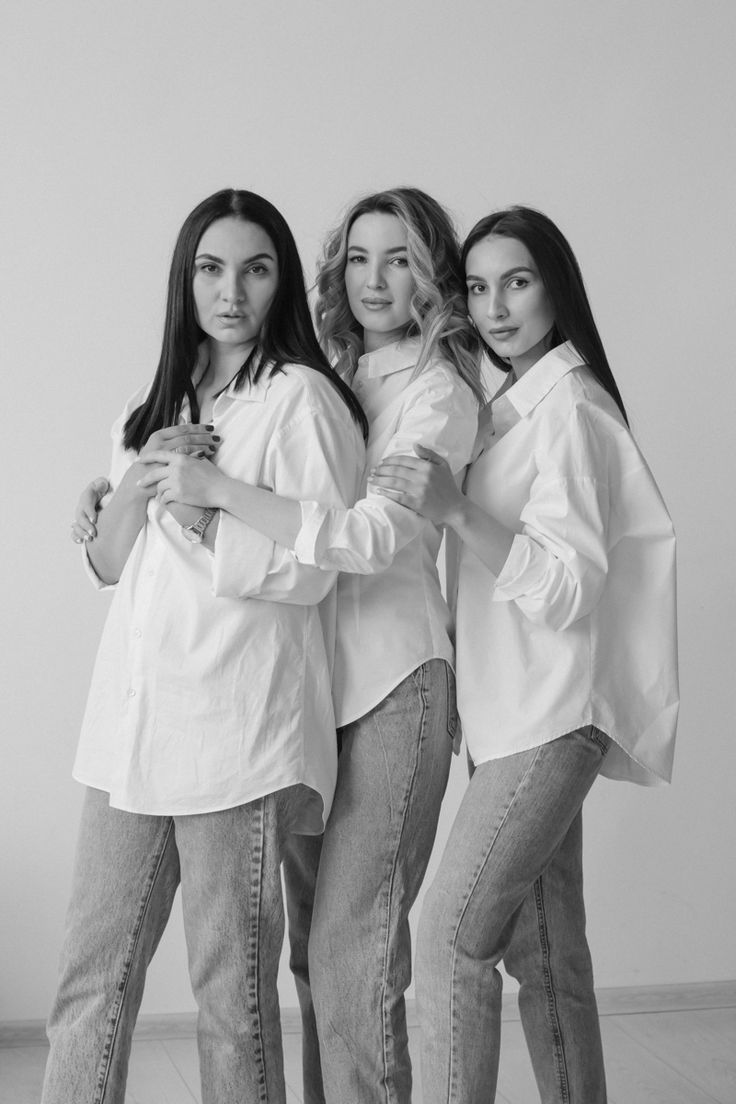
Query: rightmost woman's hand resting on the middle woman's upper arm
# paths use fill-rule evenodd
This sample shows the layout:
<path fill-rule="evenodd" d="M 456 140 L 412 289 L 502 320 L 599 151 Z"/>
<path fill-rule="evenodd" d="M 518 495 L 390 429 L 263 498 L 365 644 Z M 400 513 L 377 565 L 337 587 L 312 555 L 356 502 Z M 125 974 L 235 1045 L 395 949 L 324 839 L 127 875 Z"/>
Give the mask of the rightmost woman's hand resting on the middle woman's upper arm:
<path fill-rule="evenodd" d="M 401 502 L 437 524 L 449 524 L 463 500 L 447 460 L 424 445 L 416 456 L 385 456 L 369 482 L 378 495 Z"/>

